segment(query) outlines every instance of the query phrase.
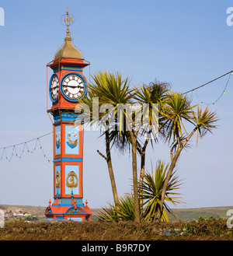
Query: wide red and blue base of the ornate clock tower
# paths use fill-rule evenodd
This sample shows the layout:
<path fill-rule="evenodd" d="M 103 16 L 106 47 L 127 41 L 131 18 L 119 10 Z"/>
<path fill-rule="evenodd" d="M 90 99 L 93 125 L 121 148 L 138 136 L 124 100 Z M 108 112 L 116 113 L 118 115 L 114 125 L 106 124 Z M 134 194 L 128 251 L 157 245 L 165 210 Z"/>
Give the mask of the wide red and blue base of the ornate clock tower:
<path fill-rule="evenodd" d="M 65 198 L 66 200 L 68 198 Z M 92 215 L 92 211 L 87 205 L 88 202 L 84 204 L 77 204 L 74 198 L 69 198 L 70 204 L 62 204 L 62 200 L 58 202 L 58 198 L 55 199 L 54 204 L 51 205 L 49 201 L 49 205 L 45 210 L 44 215 L 47 219 L 66 219 L 72 221 L 90 221 L 90 216 Z"/>

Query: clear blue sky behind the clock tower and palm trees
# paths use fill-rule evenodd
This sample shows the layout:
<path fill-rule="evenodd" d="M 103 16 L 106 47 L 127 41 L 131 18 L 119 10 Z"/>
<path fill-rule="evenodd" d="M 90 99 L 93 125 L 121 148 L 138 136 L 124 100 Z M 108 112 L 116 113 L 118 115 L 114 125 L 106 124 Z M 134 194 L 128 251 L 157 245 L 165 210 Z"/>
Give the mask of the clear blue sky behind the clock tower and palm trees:
<path fill-rule="evenodd" d="M 132 86 L 158 79 L 184 93 L 233 69 L 233 26 L 226 23 L 231 6 L 233 3 L 226 0 L 3 0 L 0 148 L 52 131 L 47 115 L 46 65 L 63 44 L 61 16 L 67 8 L 75 16 L 72 37 L 91 62 L 91 74 L 104 69 L 119 71 L 124 77 L 130 75 Z M 89 68 L 85 68 L 85 75 L 89 77 Z M 196 93 L 203 102 L 212 103 L 227 79 L 225 76 Z M 196 93 L 193 103 L 200 103 Z M 187 205 L 178 207 L 233 205 L 232 96 L 233 76 L 221 100 L 210 104 L 220 118 L 218 129 L 197 148 L 193 139 L 193 148 L 179 159 L 176 168 L 184 179 L 180 193 Z M 52 136 L 44 137 L 41 143 L 51 159 Z M 35 142 L 29 146 L 33 150 Z M 104 153 L 99 132 L 86 132 L 84 202 L 87 199 L 91 208 L 113 202 L 106 162 L 97 149 Z M 7 152 L 9 156 L 11 151 Z M 169 149 L 162 142 L 148 148 L 148 171 L 157 160 L 169 163 Z M 119 195 L 129 192 L 130 155 L 122 156 L 113 149 L 113 168 Z M 43 157 L 40 147 L 34 153 L 25 153 L 21 160 L 14 157 L 11 163 L 0 161 L 0 204 L 47 206 L 52 198 L 53 164 Z"/>

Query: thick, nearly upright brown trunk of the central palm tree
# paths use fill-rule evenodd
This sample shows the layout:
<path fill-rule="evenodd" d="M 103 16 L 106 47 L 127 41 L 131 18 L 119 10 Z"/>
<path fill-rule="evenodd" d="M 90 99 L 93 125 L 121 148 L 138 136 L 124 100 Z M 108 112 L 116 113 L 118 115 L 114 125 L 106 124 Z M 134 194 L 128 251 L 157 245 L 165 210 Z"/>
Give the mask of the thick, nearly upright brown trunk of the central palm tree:
<path fill-rule="evenodd" d="M 134 186 L 134 214 L 135 222 L 140 223 L 140 205 L 138 198 L 138 188 L 137 188 L 137 139 L 134 133 L 130 131 L 131 145 L 132 145 L 132 168 L 133 168 L 133 186 Z"/>

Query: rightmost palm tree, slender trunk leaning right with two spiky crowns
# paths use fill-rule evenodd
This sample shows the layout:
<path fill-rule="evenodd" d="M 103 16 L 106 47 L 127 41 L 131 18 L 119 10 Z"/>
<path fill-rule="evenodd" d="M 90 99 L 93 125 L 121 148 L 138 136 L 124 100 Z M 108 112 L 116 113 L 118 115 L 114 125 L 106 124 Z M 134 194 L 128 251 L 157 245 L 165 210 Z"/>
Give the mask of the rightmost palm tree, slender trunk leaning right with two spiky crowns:
<path fill-rule="evenodd" d="M 194 107 L 197 107 L 196 113 L 193 111 Z M 162 129 L 165 132 L 166 141 L 172 143 L 170 144 L 171 163 L 162 188 L 162 197 L 157 213 L 158 219 L 161 219 L 165 192 L 180 153 L 188 146 L 187 143 L 190 142 L 195 132 L 197 132 L 197 143 L 199 137 L 202 139 L 203 135 L 207 135 L 212 129 L 217 128 L 215 125 L 217 121 L 216 112 L 210 112 L 208 107 L 202 110 L 199 105 L 191 106 L 190 100 L 182 93 L 168 93 L 165 107 L 162 109 L 161 113 L 165 117 Z M 193 124 L 194 128 L 192 132 L 188 133 L 186 131 L 184 121 Z"/>

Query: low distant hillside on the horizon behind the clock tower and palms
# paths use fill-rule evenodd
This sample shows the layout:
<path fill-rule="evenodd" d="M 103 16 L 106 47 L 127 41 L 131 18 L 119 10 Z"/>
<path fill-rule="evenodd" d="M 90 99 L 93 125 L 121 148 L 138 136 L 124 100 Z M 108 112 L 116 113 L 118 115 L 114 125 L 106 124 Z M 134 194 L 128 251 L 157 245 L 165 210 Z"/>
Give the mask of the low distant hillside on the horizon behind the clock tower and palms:
<path fill-rule="evenodd" d="M 31 215 L 35 216 L 41 216 L 44 214 L 45 209 L 47 206 L 30 206 L 30 205 L 0 205 L 0 209 L 2 209 L 4 212 L 28 212 Z M 173 209 L 173 211 L 176 213 L 176 215 L 181 220 L 192 220 L 192 219 L 198 219 L 200 216 L 207 219 L 210 216 L 214 218 L 224 218 L 228 219 L 229 216 L 227 216 L 227 212 L 229 209 L 233 209 L 233 206 L 222 206 L 222 207 L 204 207 L 204 208 L 190 208 L 190 209 Z M 99 209 L 92 209 L 92 220 L 97 220 L 96 218 L 96 212 L 98 212 Z M 171 221 L 174 221 L 172 216 L 169 216 L 169 219 Z"/>

